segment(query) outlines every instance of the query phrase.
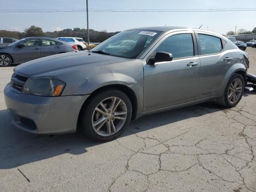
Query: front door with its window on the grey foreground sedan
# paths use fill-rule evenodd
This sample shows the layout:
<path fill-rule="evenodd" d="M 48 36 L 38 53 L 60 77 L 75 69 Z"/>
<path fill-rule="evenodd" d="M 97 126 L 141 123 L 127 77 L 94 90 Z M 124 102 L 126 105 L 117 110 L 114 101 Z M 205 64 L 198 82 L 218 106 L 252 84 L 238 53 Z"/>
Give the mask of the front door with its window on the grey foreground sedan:
<path fill-rule="evenodd" d="M 164 51 L 173 60 L 144 65 L 144 112 L 195 100 L 200 59 L 194 32 L 171 33 L 153 49 L 149 57 Z"/>

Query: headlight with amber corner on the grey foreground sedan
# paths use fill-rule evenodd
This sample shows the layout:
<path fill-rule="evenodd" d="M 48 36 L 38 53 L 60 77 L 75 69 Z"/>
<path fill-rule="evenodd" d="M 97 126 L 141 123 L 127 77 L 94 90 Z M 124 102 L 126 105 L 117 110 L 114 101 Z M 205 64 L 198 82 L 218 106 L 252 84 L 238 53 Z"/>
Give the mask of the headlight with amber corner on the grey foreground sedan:
<path fill-rule="evenodd" d="M 66 83 L 55 78 L 28 78 L 22 93 L 39 96 L 60 96 Z"/>

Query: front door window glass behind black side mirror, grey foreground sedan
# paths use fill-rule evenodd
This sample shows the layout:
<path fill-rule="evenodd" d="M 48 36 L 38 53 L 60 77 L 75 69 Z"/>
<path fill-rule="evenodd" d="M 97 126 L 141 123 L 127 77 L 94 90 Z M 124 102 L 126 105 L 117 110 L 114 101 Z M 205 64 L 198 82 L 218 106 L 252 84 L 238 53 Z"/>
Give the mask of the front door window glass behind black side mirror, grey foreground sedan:
<path fill-rule="evenodd" d="M 156 48 L 156 52 L 171 53 L 174 59 L 194 56 L 194 43 L 192 34 L 177 34 L 166 38 Z"/>

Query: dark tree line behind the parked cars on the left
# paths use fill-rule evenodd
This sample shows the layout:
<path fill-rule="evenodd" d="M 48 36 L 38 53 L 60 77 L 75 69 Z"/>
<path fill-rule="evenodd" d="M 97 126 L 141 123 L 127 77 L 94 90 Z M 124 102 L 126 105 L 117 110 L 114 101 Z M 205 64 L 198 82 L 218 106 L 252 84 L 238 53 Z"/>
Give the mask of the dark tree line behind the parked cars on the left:
<path fill-rule="evenodd" d="M 90 42 L 102 42 L 107 38 L 119 33 L 117 32 L 107 32 L 106 30 L 96 31 L 93 29 L 89 29 L 90 35 Z M 83 38 L 86 42 L 88 42 L 87 37 L 87 29 L 80 29 L 74 28 L 72 29 L 64 29 L 61 31 L 54 31 L 54 32 L 43 32 L 42 28 L 37 26 L 30 26 L 26 28 L 24 32 L 17 32 L 17 31 L 7 31 L 7 30 L 0 30 L 0 37 L 12 37 L 16 39 L 22 39 L 25 37 L 80 37 Z"/>

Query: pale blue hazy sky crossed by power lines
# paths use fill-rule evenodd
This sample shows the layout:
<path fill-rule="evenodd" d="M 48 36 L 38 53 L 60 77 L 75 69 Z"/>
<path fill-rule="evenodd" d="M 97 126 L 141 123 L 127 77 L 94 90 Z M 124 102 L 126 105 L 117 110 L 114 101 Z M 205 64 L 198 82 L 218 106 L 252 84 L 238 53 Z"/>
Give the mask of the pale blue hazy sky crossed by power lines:
<path fill-rule="evenodd" d="M 88 0 L 90 9 L 255 8 L 256 0 Z M 0 0 L 0 30 L 24 31 L 31 25 L 46 31 L 87 28 L 86 12 L 2 13 L 3 10 L 84 9 L 86 0 Z M 256 11 L 241 12 L 89 12 L 89 28 L 122 31 L 144 26 L 184 26 L 226 34 L 256 27 Z"/>

